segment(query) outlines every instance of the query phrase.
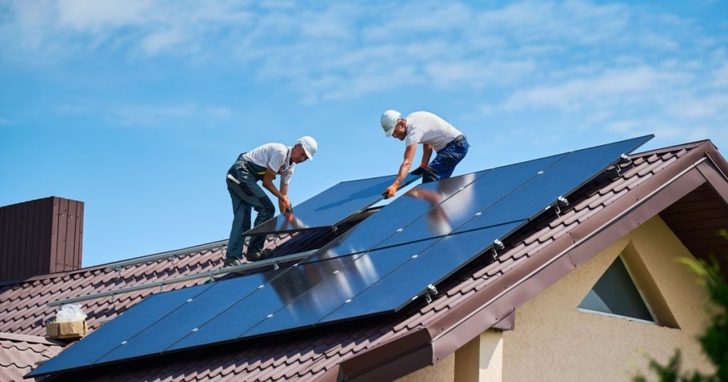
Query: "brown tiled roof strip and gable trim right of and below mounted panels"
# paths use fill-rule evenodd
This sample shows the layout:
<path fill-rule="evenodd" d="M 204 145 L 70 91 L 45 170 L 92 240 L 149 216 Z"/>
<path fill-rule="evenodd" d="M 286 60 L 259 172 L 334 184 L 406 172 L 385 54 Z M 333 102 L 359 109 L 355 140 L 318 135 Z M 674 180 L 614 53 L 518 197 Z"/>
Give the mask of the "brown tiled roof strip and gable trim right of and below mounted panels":
<path fill-rule="evenodd" d="M 540 290 L 706 182 L 724 201 L 713 207 L 726 208 L 728 183 L 721 172 L 728 172 L 728 165 L 709 141 L 631 158 L 633 163 L 620 165 L 619 172 L 612 167 L 572 194 L 570 207 L 560 216 L 545 212 L 510 236 L 496 261 L 481 256 L 449 277 L 438 285 L 440 293 L 430 304 L 419 299 L 397 314 L 51 379 L 333 381 L 392 379 L 411 373 L 447 357 L 488 327 L 512 319 L 513 311 Z"/>

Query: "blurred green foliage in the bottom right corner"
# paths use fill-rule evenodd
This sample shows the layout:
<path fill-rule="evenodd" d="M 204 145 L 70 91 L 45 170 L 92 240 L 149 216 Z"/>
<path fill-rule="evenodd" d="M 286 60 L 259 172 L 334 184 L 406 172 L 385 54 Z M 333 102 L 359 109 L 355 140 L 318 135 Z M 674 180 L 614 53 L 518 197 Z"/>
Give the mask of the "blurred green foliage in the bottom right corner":
<path fill-rule="evenodd" d="M 721 230 L 721 236 L 728 239 L 728 231 Z M 705 287 L 711 306 L 708 307 L 710 324 L 697 339 L 703 353 L 716 367 L 713 375 L 703 375 L 697 370 L 681 372 L 682 355 L 680 350 L 668 360 L 666 365 L 651 359 L 649 368 L 660 382 L 728 382 L 728 284 L 721 274 L 718 260 L 711 256 L 710 261 L 691 258 L 679 259 L 698 276 L 700 284 Z M 646 382 L 643 375 L 638 375 L 633 382 Z"/>

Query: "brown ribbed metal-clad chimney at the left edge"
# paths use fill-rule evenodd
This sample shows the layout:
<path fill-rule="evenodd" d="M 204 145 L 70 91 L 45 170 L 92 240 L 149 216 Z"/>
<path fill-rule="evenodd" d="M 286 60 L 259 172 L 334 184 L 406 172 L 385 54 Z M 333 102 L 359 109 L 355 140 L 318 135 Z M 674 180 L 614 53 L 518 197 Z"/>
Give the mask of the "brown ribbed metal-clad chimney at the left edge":
<path fill-rule="evenodd" d="M 84 202 L 50 196 L 0 207 L 0 280 L 81 268 Z"/>

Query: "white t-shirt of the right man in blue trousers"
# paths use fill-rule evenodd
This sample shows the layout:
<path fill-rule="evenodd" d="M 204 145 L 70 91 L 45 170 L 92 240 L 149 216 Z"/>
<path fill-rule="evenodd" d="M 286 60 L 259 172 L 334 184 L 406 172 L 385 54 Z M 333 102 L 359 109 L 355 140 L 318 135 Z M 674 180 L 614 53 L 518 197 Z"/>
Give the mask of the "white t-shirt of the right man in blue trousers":
<path fill-rule="evenodd" d="M 427 111 L 415 111 L 407 116 L 405 144 L 407 146 L 417 143 L 427 143 L 435 151 L 440 151 L 448 143 L 462 135 L 453 125 L 444 119 Z"/>

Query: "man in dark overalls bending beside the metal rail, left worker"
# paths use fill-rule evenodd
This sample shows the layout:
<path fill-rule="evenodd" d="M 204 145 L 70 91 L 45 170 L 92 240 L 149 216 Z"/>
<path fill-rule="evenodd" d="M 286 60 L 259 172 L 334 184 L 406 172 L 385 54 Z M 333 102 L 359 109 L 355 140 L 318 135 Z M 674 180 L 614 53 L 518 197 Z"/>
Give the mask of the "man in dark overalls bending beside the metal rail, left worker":
<path fill-rule="evenodd" d="M 303 137 L 293 147 L 282 143 L 267 143 L 240 154 L 227 173 L 227 188 L 232 199 L 232 229 L 225 255 L 225 266 L 239 265 L 245 239 L 243 232 L 250 229 L 250 212 L 256 210 L 256 226 L 273 218 L 275 207 L 264 191 L 258 186 L 261 180 L 266 190 L 278 198 L 281 213 L 291 210 L 288 200 L 288 184 L 296 164 L 306 159 L 313 160 L 318 144 L 312 137 Z M 273 180 L 280 175 L 280 187 Z M 250 261 L 262 260 L 265 235 L 251 236 L 245 258 Z"/>

